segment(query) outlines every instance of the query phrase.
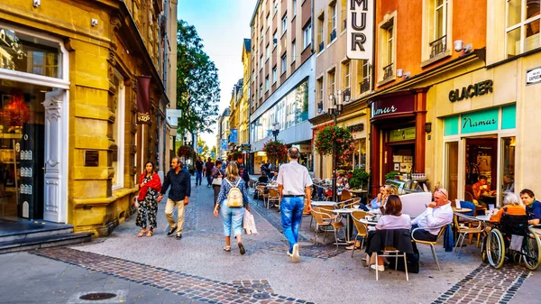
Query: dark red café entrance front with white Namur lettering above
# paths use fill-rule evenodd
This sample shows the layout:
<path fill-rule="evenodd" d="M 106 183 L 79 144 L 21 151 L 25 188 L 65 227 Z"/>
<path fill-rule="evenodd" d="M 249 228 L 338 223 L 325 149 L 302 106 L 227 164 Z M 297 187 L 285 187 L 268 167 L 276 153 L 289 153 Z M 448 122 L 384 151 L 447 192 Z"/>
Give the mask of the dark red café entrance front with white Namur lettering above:
<path fill-rule="evenodd" d="M 372 195 L 393 171 L 425 172 L 426 92 L 426 88 L 409 89 L 369 101 Z"/>

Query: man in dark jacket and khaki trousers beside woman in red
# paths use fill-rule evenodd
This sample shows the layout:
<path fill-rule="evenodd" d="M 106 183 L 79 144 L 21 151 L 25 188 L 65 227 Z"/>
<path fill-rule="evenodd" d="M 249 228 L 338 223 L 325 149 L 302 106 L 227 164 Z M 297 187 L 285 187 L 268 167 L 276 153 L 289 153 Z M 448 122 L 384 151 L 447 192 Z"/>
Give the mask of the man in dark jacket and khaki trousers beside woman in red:
<path fill-rule="evenodd" d="M 157 198 L 158 202 L 160 202 L 163 194 L 169 188 L 170 193 L 165 205 L 165 217 L 167 217 L 170 226 L 167 236 L 172 236 L 177 232 L 177 240 L 179 240 L 182 238 L 182 226 L 184 226 L 184 209 L 188 205 L 188 198 L 191 192 L 190 175 L 187 170 L 182 170 L 182 163 L 180 163 L 179 157 L 175 157 L 171 161 L 171 170 L 165 176 L 160 196 Z M 177 222 L 173 219 L 175 207 L 177 207 Z"/>

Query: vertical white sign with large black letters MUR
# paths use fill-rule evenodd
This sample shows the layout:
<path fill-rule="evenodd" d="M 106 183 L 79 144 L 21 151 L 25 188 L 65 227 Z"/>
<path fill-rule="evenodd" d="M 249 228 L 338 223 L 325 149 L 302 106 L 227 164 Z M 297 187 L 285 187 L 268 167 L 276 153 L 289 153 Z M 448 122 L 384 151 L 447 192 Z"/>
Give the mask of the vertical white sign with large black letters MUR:
<path fill-rule="evenodd" d="M 347 57 L 372 60 L 374 0 L 347 0 Z"/>

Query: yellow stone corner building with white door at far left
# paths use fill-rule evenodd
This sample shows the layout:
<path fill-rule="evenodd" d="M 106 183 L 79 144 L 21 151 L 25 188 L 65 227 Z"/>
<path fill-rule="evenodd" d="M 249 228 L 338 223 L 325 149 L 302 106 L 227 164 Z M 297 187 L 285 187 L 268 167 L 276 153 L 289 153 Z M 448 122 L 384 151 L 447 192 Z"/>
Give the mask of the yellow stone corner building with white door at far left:
<path fill-rule="evenodd" d="M 0 2 L 3 218 L 108 235 L 133 212 L 144 162 L 169 168 L 176 3 Z M 138 125 L 140 76 L 151 77 L 151 123 Z"/>

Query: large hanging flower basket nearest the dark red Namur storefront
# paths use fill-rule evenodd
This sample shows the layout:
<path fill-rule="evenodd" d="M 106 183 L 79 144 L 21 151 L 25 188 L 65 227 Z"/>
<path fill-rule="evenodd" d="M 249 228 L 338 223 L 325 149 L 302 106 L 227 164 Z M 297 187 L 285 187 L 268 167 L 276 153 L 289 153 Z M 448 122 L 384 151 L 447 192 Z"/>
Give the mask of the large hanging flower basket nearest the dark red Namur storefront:
<path fill-rule="evenodd" d="M 326 126 L 316 135 L 316 152 L 321 155 L 332 155 L 333 144 L 336 143 L 336 157 L 346 160 L 355 152 L 355 140 L 345 127 Z"/>

